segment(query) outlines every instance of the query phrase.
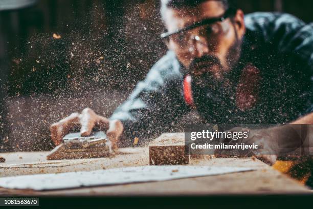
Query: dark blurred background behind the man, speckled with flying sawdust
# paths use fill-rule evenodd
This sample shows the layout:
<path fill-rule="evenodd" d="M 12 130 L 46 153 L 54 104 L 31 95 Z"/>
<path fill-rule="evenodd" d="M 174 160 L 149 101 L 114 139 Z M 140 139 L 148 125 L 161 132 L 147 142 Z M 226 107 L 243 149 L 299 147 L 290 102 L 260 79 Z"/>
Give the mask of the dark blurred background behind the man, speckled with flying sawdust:
<path fill-rule="evenodd" d="M 238 4 L 313 20 L 310 0 Z M 165 54 L 163 30 L 152 0 L 39 0 L 0 11 L 0 152 L 51 149 L 50 124 L 86 107 L 109 117 Z"/>

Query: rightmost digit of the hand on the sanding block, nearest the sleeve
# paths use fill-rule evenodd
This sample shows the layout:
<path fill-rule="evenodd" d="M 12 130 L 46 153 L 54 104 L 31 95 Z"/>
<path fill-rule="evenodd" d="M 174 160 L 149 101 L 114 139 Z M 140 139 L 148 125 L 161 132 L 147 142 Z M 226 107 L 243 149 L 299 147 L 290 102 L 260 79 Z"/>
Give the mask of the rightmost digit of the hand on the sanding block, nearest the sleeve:
<path fill-rule="evenodd" d="M 106 135 L 109 141 L 112 143 L 112 149 L 117 150 L 117 143 L 124 131 L 123 123 L 120 120 L 110 120 L 109 129 L 106 132 Z"/>

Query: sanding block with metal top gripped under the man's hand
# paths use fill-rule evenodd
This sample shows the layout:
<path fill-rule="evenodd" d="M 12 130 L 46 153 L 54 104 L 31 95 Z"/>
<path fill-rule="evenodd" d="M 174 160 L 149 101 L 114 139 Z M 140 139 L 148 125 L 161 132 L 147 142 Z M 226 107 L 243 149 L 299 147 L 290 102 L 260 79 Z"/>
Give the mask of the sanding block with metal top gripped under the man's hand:
<path fill-rule="evenodd" d="M 110 142 L 104 132 L 93 132 L 88 137 L 71 133 L 63 137 L 60 145 L 47 156 L 47 160 L 100 158 L 113 155 Z"/>

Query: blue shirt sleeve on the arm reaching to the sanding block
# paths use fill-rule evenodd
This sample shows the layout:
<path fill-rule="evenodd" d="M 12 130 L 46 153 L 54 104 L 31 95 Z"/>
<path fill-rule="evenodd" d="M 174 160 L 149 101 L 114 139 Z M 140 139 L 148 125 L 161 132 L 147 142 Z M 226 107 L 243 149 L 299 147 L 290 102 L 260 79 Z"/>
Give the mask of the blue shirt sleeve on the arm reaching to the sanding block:
<path fill-rule="evenodd" d="M 162 132 L 188 107 L 182 95 L 183 76 L 173 52 L 168 52 L 136 86 L 128 99 L 110 117 L 123 122 L 120 146 L 126 147 L 138 137 L 140 143 Z"/>

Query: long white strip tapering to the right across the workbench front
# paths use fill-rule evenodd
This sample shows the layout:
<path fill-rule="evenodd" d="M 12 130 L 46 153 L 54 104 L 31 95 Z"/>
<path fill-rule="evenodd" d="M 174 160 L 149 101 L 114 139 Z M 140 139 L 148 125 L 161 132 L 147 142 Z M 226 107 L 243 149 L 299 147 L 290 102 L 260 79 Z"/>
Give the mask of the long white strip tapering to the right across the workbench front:
<path fill-rule="evenodd" d="M 88 172 L 38 174 L 0 178 L 8 189 L 58 190 L 81 186 L 100 186 L 149 181 L 166 181 L 200 176 L 252 171 L 251 168 L 210 166 L 140 166 Z"/>

